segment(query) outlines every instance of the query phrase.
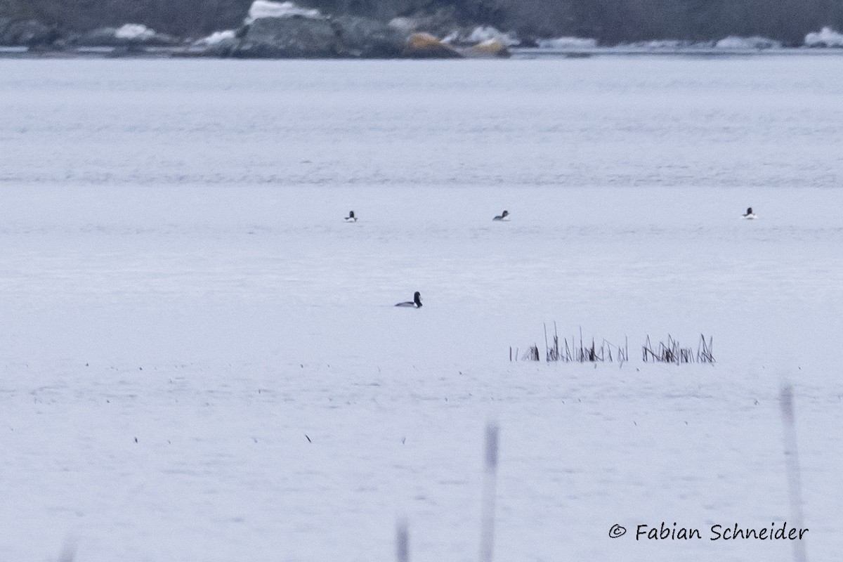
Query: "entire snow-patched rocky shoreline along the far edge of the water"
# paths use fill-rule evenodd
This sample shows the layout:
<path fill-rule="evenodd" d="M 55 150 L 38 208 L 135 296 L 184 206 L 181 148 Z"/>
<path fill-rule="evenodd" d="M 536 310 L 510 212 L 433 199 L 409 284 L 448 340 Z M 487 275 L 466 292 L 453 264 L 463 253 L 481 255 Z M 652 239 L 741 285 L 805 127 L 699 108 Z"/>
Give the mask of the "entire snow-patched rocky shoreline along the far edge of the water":
<path fill-rule="evenodd" d="M 824 28 L 808 33 L 803 47 L 843 47 L 843 34 Z M 540 52 L 568 56 L 615 53 L 732 54 L 796 51 L 796 45 L 761 36 L 728 36 L 720 40 L 653 40 L 599 45 L 582 37 L 519 38 L 491 25 L 459 25 L 447 12 L 398 17 L 389 22 L 362 16 L 332 15 L 293 2 L 255 0 L 237 29 L 206 37 L 177 37 L 143 24 L 99 27 L 71 32 L 35 19 L 0 15 L 0 56 L 49 57 L 211 57 L 211 58 L 505 58 L 513 50 L 538 47 Z M 787 47 L 787 48 L 786 48 Z M 816 51 L 816 49 L 814 49 Z M 824 49 L 819 49 L 824 51 Z M 830 49 L 839 51 L 839 49 Z"/>

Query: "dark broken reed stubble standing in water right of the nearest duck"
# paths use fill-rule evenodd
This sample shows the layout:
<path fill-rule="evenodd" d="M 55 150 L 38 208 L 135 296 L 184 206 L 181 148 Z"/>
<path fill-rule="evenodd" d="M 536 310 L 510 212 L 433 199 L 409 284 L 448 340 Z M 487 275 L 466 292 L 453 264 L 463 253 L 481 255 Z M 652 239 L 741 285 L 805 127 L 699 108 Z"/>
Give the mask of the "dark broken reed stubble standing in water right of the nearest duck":
<path fill-rule="evenodd" d="M 572 335 L 569 341 L 567 337 L 560 338 L 558 330 L 556 329 L 556 322 L 553 323 L 553 334 L 549 335 L 547 332 L 547 324 L 545 324 L 545 361 L 563 363 L 601 363 L 601 362 L 619 362 L 620 364 L 629 361 L 629 338 L 624 338 L 624 345 L 614 345 L 609 340 L 600 339 L 600 345 L 597 345 L 598 340 L 592 338 L 589 343 L 583 338 L 583 328 L 580 327 L 579 339 L 576 335 Z M 700 335 L 700 343 L 697 345 L 696 351 L 690 347 L 682 347 L 679 345 L 679 340 L 674 340 L 673 336 L 668 334 L 667 343 L 659 341 L 658 345 L 652 345 L 650 336 L 647 335 L 647 340 L 642 345 L 642 359 L 645 363 L 674 363 L 675 365 L 682 365 L 685 363 L 713 363 L 713 341 L 709 337 Z M 519 354 L 519 348 L 509 348 L 509 361 L 541 361 L 539 346 L 536 344 L 530 345 L 527 351 Z"/>

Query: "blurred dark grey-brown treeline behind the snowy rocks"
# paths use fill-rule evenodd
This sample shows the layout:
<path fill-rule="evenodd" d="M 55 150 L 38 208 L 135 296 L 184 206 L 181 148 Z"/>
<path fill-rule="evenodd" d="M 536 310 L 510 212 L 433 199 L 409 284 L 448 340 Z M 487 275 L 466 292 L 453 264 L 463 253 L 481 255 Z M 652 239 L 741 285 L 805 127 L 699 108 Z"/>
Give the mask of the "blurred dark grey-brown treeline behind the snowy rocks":
<path fill-rule="evenodd" d="M 233 29 L 251 0 L 0 0 L 0 17 L 69 31 L 127 22 L 180 36 Z M 577 35 L 601 44 L 763 35 L 799 45 L 809 31 L 843 29 L 843 0 L 303 0 L 325 13 L 389 20 L 439 13 L 454 24 L 492 24 L 524 37 Z"/>

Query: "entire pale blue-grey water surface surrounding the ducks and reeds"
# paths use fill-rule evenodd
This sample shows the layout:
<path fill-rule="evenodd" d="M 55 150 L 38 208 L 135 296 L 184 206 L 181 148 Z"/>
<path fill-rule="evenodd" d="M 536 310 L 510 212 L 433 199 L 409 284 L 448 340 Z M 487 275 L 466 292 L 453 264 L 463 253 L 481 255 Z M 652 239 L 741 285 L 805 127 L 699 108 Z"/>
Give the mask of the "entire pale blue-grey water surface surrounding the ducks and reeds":
<path fill-rule="evenodd" d="M 0 560 L 475 560 L 497 420 L 497 560 L 786 562 L 786 381 L 835 559 L 841 71 L 0 60 Z"/>

